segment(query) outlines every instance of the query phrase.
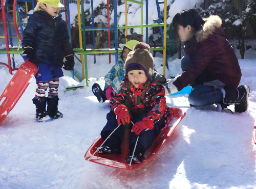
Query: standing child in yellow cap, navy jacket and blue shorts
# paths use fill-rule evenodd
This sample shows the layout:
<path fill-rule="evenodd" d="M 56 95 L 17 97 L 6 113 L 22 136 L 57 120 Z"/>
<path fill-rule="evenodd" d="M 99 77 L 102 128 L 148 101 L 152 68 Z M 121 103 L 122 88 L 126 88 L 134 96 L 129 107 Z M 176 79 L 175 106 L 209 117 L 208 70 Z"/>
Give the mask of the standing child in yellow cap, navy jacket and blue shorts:
<path fill-rule="evenodd" d="M 66 22 L 61 15 L 57 16 L 60 7 L 64 6 L 59 0 L 39 0 L 24 30 L 23 55 L 38 67 L 33 99 L 38 121 L 63 117 L 58 111 L 59 77 L 63 76 L 61 67 L 64 64 L 65 70 L 73 70 L 75 64 Z"/>

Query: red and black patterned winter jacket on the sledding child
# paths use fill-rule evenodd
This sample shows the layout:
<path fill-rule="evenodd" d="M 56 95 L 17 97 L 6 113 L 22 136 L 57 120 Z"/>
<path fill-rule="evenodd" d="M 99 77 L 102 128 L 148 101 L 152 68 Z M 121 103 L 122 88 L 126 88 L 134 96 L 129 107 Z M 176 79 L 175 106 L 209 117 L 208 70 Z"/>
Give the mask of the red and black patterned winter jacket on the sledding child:
<path fill-rule="evenodd" d="M 137 89 L 131 84 L 130 89 L 120 89 L 119 93 L 110 100 L 111 110 L 115 111 L 120 104 L 127 106 L 128 110 L 133 113 L 142 115 L 147 113 L 147 117 L 154 123 L 161 117 L 167 120 L 170 116 L 170 109 L 166 105 L 163 84 L 166 79 L 157 72 L 154 72 L 150 90 L 144 91 L 140 85 Z"/>

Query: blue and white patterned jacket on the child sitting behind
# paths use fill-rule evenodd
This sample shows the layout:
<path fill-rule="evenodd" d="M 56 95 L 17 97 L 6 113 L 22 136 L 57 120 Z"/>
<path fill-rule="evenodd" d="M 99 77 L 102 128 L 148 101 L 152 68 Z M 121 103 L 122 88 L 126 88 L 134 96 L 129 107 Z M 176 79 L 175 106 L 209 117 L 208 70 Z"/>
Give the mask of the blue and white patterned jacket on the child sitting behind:
<path fill-rule="evenodd" d="M 120 90 L 120 83 L 124 79 L 124 61 L 119 56 L 117 63 L 111 68 L 108 74 L 105 75 L 105 87 L 104 89 L 111 86 L 113 90 L 118 93 Z"/>

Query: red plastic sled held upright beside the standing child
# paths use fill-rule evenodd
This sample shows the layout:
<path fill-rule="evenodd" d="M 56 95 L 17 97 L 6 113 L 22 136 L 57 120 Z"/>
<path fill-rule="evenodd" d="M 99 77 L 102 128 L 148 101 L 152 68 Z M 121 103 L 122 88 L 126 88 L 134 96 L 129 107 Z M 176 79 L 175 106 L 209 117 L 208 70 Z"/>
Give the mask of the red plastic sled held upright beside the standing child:
<path fill-rule="evenodd" d="M 28 60 L 18 68 L 0 97 L 0 123 L 6 118 L 20 96 L 27 89 L 37 70 L 37 67 Z"/>

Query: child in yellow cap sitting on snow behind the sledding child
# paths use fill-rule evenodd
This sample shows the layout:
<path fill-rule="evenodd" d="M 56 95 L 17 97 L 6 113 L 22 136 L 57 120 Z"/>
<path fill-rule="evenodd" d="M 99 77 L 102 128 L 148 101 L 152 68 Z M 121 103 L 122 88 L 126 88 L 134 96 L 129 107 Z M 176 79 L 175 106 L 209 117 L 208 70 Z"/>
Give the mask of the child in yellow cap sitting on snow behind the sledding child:
<path fill-rule="evenodd" d="M 120 84 L 124 78 L 124 63 L 128 53 L 133 50 L 133 47 L 139 43 L 137 40 L 127 41 L 125 44 L 119 44 L 123 49 L 118 58 L 117 63 L 111 68 L 109 73 L 105 75 L 105 87 L 102 91 L 99 84 L 95 83 L 92 86 L 93 94 L 97 97 L 99 102 L 109 100 L 115 93 L 120 90 Z"/>

